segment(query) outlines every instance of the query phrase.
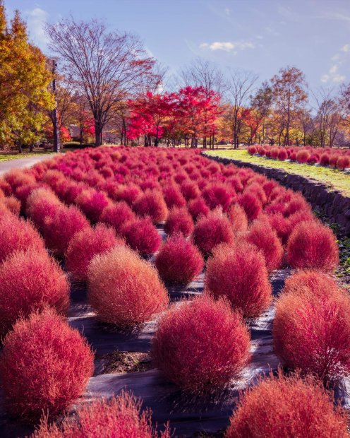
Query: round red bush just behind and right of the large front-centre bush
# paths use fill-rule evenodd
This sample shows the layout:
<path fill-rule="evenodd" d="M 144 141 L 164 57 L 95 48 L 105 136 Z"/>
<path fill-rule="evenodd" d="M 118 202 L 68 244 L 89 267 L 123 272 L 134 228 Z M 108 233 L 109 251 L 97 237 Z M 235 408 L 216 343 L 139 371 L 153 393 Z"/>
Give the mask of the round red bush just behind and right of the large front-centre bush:
<path fill-rule="evenodd" d="M 243 316 L 258 316 L 272 299 L 263 254 L 246 242 L 220 246 L 207 261 L 205 290 L 213 297 L 227 297 Z"/>

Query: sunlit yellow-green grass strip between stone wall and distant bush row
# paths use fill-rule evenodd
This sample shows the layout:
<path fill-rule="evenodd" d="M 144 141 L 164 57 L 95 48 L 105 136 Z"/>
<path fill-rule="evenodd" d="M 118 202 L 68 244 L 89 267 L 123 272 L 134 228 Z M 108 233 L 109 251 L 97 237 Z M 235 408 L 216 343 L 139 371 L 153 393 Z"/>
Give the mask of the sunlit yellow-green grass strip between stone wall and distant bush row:
<path fill-rule="evenodd" d="M 278 161 L 268 158 L 249 155 L 247 150 L 206 150 L 207 155 L 214 155 L 223 158 L 232 158 L 244 162 L 251 162 L 255 165 L 282 169 L 288 173 L 294 173 L 306 178 L 313 178 L 326 184 L 330 189 L 339 190 L 342 194 L 350 196 L 350 174 L 330 167 L 312 166 L 298 164 L 297 162 Z"/>

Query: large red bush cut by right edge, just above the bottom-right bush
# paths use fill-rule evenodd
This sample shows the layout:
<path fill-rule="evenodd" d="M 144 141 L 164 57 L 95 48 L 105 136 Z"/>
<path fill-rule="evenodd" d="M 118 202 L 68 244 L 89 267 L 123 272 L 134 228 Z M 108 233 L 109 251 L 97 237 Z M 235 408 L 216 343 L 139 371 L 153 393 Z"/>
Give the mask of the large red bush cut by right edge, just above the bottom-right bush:
<path fill-rule="evenodd" d="M 284 293 L 276 304 L 274 350 L 291 368 L 320 379 L 350 375 L 350 298 L 342 290 Z"/>

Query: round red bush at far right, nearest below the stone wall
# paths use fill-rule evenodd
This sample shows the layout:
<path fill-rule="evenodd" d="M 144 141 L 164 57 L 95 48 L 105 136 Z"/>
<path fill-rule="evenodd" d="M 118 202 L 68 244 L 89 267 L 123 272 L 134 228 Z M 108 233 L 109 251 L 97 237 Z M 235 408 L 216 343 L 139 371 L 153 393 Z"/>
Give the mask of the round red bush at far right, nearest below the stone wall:
<path fill-rule="evenodd" d="M 315 220 L 296 225 L 289 237 L 286 254 L 292 268 L 330 272 L 339 263 L 332 230 Z"/>

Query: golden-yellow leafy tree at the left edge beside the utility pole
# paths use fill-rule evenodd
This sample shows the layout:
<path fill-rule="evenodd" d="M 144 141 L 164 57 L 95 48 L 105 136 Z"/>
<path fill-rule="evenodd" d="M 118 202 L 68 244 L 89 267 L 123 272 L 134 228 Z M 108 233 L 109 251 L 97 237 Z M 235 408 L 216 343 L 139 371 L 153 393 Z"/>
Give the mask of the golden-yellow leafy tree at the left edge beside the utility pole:
<path fill-rule="evenodd" d="M 20 13 L 6 23 L 0 0 L 0 143 L 33 144 L 42 136 L 45 109 L 54 107 L 49 91 L 51 74 L 40 49 L 28 42 Z"/>

